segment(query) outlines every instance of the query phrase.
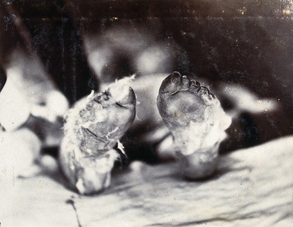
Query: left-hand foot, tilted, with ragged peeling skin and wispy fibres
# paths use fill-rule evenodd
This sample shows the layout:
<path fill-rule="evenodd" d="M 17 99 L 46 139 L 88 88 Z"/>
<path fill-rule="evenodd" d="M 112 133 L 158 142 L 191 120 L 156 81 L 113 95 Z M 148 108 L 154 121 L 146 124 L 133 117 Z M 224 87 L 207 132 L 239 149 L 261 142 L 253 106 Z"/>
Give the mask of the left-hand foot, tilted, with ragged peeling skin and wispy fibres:
<path fill-rule="evenodd" d="M 121 79 L 103 93 L 91 93 L 68 112 L 60 161 L 80 194 L 110 185 L 110 171 L 119 157 L 113 147 L 135 118 L 136 99 L 129 80 Z"/>

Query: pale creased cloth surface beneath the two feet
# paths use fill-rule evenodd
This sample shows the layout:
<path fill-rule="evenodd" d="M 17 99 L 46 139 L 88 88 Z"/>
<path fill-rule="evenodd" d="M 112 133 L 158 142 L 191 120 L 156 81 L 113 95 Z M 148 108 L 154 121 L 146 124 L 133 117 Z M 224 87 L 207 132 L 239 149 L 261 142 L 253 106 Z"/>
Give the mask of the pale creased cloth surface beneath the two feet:
<path fill-rule="evenodd" d="M 133 163 L 96 196 L 66 189 L 59 173 L 15 178 L 1 194 L 1 224 L 291 226 L 292 148 L 290 136 L 236 151 L 220 157 L 214 178 L 199 182 L 183 180 L 174 163 Z"/>

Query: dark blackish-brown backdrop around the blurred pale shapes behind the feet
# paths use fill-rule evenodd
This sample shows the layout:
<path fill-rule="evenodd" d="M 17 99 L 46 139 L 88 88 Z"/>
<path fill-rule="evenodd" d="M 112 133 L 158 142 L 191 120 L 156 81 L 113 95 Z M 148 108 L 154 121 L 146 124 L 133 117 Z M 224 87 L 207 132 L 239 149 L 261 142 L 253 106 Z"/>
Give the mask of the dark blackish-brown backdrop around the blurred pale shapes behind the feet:
<path fill-rule="evenodd" d="M 2 4 L 6 18 L 3 30 L 10 23 L 12 12 L 22 17 L 33 49 L 71 103 L 98 88 L 98 81 L 87 65 L 82 36 L 102 34 L 112 26 L 128 25 L 133 29 L 144 26 L 156 41 L 172 45 L 174 70 L 204 77 L 214 89 L 222 82 L 234 82 L 260 97 L 280 99 L 277 112 L 241 114 L 230 128 L 234 139 L 225 143 L 229 147 L 225 150 L 253 146 L 293 132 L 291 1 L 3 1 Z M 14 45 L 26 46 L 23 38 L 18 37 L 19 32 L 13 29 L 5 32 L 1 34 L 1 43 L 7 45 L 1 47 L 1 53 L 9 52 Z M 123 65 L 119 67 L 117 70 Z M 123 72 L 129 75 L 135 68 L 128 65 Z M 75 93 L 73 87 L 77 87 Z M 220 99 L 225 109 L 233 108 L 225 97 Z M 240 129 L 239 133 L 234 133 L 235 128 Z"/>

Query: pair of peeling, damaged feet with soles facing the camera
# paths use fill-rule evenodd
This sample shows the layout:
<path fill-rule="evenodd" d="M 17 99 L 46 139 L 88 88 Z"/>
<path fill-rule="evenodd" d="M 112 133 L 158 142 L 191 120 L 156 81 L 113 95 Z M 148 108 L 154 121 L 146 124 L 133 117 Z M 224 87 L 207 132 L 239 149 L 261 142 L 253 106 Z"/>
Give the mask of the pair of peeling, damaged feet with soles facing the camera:
<path fill-rule="evenodd" d="M 75 104 L 66 117 L 60 161 L 63 173 L 80 194 L 110 185 L 110 171 L 119 154 L 113 147 L 135 119 L 136 97 L 129 78 L 103 93 L 92 93 Z M 140 100 L 138 100 L 140 101 Z M 218 99 L 199 82 L 173 72 L 158 91 L 157 107 L 178 150 L 186 178 L 211 175 L 218 146 L 231 120 Z M 123 147 L 119 143 L 118 147 Z"/>

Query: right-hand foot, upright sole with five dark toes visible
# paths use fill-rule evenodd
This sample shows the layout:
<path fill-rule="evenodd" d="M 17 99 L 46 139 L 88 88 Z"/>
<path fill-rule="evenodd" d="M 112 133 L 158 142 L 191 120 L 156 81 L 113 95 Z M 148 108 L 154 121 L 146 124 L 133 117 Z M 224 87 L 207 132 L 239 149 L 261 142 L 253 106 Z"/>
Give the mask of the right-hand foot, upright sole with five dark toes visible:
<path fill-rule="evenodd" d="M 231 124 L 218 99 L 198 81 L 173 72 L 160 86 L 157 105 L 174 137 L 185 177 L 211 175 L 224 130 Z"/>

